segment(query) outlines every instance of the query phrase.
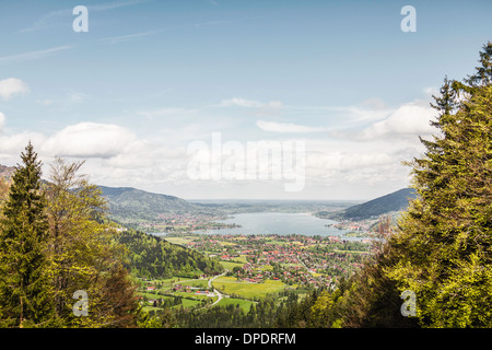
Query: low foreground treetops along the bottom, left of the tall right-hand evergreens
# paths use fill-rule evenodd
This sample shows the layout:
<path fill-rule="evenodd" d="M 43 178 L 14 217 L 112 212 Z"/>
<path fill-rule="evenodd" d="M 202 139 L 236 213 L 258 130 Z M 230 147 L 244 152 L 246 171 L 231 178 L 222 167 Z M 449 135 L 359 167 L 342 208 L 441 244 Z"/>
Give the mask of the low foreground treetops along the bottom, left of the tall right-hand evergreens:
<path fill-rule="evenodd" d="M 367 290 L 379 292 L 379 295 L 361 293 L 361 285 L 371 283 L 374 282 L 354 275 L 350 279 L 342 278 L 335 291 L 316 289 L 303 298 L 295 291 L 284 291 L 267 295 L 247 312 L 239 304 L 230 304 L 191 312 L 164 310 L 155 315 L 165 318 L 169 327 L 180 328 L 419 327 L 417 318 L 401 315 L 402 301 L 395 289 L 384 292 L 370 287 Z M 391 291 L 395 292 L 393 295 Z M 385 296 L 389 298 L 383 300 Z"/>

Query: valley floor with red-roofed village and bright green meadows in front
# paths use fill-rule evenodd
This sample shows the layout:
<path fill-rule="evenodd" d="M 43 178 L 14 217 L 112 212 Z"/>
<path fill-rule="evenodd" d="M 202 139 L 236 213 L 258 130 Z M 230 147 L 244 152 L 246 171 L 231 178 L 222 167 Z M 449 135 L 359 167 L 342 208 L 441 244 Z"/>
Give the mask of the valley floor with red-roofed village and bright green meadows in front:
<path fill-rule="evenodd" d="M 362 265 L 372 247 L 370 240 L 340 236 L 187 233 L 163 238 L 219 260 L 225 272 L 198 279 L 142 279 L 141 301 L 147 307 L 202 308 L 218 303 L 249 307 L 283 291 L 332 290 Z"/>

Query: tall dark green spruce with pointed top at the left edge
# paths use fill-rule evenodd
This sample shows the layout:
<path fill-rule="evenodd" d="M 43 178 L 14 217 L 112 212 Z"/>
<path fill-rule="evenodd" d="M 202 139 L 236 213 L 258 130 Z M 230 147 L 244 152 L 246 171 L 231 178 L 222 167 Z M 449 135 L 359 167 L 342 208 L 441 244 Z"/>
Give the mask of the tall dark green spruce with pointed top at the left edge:
<path fill-rule="evenodd" d="M 40 327 L 50 317 L 45 257 L 48 234 L 42 163 L 31 142 L 21 153 L 0 231 L 0 317 L 10 327 Z"/>

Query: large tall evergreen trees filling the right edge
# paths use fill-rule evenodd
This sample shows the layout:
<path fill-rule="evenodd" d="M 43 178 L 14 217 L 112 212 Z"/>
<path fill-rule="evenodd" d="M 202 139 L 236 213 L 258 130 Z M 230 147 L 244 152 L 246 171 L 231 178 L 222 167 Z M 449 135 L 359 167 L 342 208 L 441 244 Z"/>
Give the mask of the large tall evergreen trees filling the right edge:
<path fill-rule="evenodd" d="M 469 95 L 456 113 L 441 108 L 441 136 L 411 163 L 419 199 L 390 242 L 398 262 L 387 276 L 417 293 L 425 327 L 492 326 L 491 49 L 470 85 L 455 84 Z"/>

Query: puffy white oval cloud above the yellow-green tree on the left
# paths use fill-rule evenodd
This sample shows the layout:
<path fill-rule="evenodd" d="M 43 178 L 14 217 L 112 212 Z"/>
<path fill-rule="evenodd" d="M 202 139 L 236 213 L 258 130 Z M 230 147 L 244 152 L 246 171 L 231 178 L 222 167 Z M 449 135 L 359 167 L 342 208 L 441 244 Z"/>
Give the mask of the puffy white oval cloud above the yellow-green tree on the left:
<path fill-rule="evenodd" d="M 133 140 L 129 130 L 109 124 L 80 122 L 68 126 L 43 144 L 43 152 L 75 158 L 112 158 Z"/>

